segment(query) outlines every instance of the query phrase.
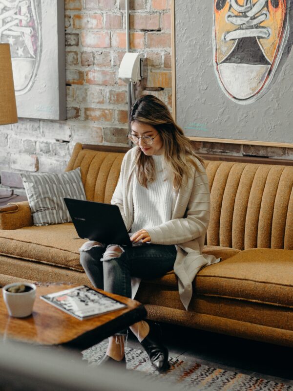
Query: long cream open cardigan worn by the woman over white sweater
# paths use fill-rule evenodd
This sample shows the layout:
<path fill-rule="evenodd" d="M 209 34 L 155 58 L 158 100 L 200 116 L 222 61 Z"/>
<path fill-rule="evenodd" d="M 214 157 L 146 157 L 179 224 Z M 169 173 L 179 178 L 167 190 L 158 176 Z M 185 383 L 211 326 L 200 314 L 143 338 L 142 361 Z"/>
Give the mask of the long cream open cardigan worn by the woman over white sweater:
<path fill-rule="evenodd" d="M 111 203 L 118 205 L 127 231 L 133 222 L 132 187 L 135 175 L 135 152 L 129 150 L 122 162 L 120 177 Z M 192 168 L 192 176 L 179 191 L 173 189 L 171 220 L 148 229 L 153 244 L 175 244 L 177 256 L 174 272 L 178 277 L 180 299 L 188 309 L 192 296 L 192 281 L 203 267 L 219 262 L 213 255 L 202 254 L 209 225 L 209 182 L 203 165 L 196 159 L 198 172 Z"/>

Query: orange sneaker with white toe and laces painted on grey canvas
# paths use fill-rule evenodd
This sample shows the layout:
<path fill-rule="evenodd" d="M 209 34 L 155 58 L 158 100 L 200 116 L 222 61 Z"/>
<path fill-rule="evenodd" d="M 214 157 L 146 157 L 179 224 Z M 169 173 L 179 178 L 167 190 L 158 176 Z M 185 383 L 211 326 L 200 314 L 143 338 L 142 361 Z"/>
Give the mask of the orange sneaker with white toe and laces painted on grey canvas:
<path fill-rule="evenodd" d="M 248 104 L 269 86 L 289 34 L 288 0 L 214 0 L 214 65 L 234 102 Z"/>

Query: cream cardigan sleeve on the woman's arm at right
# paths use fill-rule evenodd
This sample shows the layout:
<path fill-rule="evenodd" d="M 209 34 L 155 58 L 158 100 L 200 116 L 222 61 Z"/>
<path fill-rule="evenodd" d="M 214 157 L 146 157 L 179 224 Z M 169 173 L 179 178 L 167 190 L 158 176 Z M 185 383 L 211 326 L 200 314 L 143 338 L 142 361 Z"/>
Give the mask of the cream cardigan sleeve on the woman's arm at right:
<path fill-rule="evenodd" d="M 185 186 L 184 186 L 185 187 Z M 188 189 L 179 192 L 182 198 Z M 188 192 L 189 193 L 189 192 Z M 209 225 L 210 197 L 206 172 L 195 171 L 185 216 L 147 229 L 153 244 L 181 244 L 206 234 Z"/>

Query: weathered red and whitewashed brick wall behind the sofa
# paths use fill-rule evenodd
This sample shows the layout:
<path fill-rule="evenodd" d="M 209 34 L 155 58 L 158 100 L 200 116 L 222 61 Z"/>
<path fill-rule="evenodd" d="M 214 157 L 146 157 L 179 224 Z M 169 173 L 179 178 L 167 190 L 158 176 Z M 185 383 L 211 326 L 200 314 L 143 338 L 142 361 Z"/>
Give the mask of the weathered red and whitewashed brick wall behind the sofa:
<path fill-rule="evenodd" d="M 127 87 L 118 79 L 126 52 L 125 0 L 65 0 L 67 121 L 20 119 L 0 127 L 2 186 L 19 173 L 62 172 L 76 142 L 126 145 Z M 137 96 L 171 108 L 170 0 L 130 0 L 130 48 L 146 55 Z M 194 143 L 199 152 L 287 156 L 291 150 Z"/>

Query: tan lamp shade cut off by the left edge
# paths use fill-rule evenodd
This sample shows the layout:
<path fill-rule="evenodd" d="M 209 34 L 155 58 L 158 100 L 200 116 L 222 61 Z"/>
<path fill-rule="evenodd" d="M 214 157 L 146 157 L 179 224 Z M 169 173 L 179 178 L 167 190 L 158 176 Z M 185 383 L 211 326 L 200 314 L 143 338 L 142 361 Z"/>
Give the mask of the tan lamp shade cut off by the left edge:
<path fill-rule="evenodd" d="M 17 122 L 9 43 L 0 43 L 0 125 Z"/>

